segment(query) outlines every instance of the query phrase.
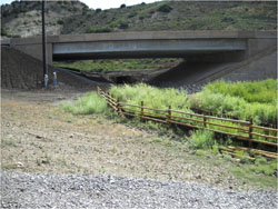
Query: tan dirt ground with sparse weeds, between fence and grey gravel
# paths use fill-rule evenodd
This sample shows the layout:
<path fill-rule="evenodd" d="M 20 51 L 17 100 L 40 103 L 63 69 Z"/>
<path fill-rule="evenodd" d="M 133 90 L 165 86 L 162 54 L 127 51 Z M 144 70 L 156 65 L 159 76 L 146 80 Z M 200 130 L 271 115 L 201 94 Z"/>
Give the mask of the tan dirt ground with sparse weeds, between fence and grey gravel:
<path fill-rule="evenodd" d="M 99 116 L 59 108 L 78 91 L 1 91 L 1 168 L 26 172 L 109 173 L 252 189 L 217 156 L 195 155 L 173 142 Z"/>

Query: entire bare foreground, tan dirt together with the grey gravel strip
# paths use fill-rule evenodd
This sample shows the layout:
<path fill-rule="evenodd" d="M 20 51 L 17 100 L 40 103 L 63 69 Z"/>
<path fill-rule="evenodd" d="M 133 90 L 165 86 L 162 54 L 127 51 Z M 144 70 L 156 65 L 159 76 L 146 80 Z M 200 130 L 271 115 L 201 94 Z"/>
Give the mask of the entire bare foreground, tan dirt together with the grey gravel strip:
<path fill-rule="evenodd" d="M 83 93 L 2 90 L 3 208 L 276 208 L 221 157 L 59 109 Z"/>

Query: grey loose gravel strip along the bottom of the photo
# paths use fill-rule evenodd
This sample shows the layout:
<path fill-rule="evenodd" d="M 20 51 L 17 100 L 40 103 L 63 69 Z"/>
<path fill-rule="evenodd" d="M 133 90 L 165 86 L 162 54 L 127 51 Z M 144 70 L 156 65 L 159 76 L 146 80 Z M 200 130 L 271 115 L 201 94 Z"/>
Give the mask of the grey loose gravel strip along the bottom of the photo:
<path fill-rule="evenodd" d="M 115 176 L 1 171 L 2 208 L 277 208 L 277 193 Z"/>

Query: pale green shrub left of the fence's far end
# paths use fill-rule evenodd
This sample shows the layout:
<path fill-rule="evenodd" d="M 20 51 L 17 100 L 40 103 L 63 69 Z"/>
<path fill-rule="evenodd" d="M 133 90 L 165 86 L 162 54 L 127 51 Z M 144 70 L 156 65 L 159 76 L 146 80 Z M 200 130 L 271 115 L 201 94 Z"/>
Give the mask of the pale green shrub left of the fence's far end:
<path fill-rule="evenodd" d="M 62 103 L 61 108 L 72 113 L 106 113 L 108 111 L 106 100 L 97 92 L 89 92 L 76 103 Z"/>

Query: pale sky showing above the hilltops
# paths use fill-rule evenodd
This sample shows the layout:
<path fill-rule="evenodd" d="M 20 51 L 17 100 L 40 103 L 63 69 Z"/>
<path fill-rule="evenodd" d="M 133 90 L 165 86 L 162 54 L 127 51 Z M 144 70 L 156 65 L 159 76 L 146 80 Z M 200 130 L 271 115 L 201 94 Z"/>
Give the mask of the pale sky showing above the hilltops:
<path fill-rule="evenodd" d="M 1 0 L 0 4 L 11 3 L 13 0 Z M 119 8 L 122 3 L 126 6 L 139 4 L 141 2 L 151 3 L 155 1 L 161 0 L 80 0 L 85 2 L 89 8 L 92 9 L 110 9 L 110 8 Z"/>

